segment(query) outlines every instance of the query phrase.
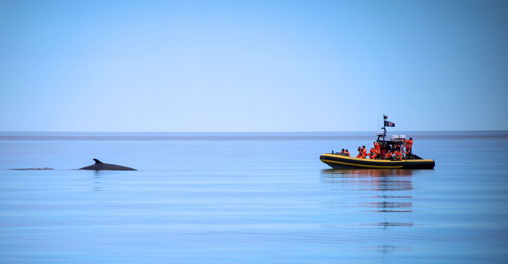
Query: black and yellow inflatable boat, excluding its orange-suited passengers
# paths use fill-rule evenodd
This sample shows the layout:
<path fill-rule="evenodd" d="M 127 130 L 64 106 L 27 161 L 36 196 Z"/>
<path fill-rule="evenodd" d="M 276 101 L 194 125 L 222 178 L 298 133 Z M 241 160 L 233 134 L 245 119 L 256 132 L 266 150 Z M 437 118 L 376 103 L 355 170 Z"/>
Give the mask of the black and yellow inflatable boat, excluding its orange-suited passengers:
<path fill-rule="evenodd" d="M 388 116 L 383 115 L 384 119 Z M 403 147 L 405 135 L 392 135 L 389 140 L 386 139 L 386 126 L 395 126 L 394 123 L 385 121 L 384 131 L 376 133 L 377 144 L 383 146 L 382 159 L 366 159 L 348 157 L 345 153 L 325 153 L 321 154 L 320 160 L 333 169 L 433 169 L 435 162 L 433 159 L 423 159 L 412 153 L 411 148 L 406 147 L 402 152 L 402 160 L 384 159 L 385 151 L 396 147 Z"/>

